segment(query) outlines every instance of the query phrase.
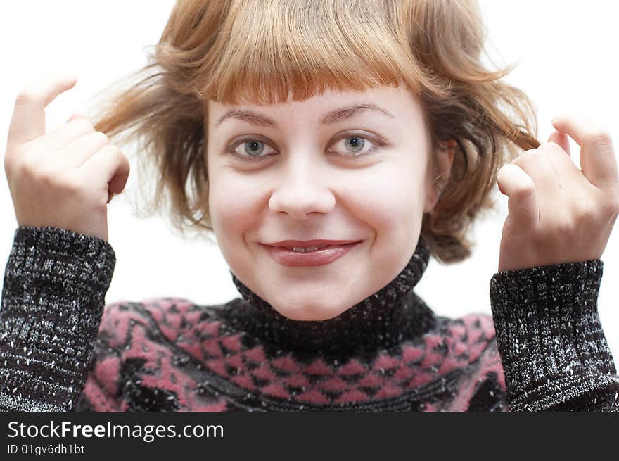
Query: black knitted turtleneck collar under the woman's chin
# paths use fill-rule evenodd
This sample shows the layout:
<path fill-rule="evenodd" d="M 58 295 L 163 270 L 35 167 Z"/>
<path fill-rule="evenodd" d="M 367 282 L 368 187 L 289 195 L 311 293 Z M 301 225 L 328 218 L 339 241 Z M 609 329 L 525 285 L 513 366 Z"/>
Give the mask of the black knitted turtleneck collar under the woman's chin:
<path fill-rule="evenodd" d="M 222 313 L 236 328 L 281 350 L 329 356 L 371 353 L 435 326 L 434 313 L 413 292 L 429 257 L 420 238 L 406 267 L 391 282 L 337 317 L 317 321 L 284 317 L 230 272 L 243 299 Z"/>

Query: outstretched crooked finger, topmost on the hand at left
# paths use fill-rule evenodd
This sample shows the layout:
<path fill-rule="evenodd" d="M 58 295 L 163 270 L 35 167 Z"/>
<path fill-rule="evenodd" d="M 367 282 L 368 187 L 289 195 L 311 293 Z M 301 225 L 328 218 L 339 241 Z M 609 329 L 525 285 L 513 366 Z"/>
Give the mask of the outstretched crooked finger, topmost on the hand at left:
<path fill-rule="evenodd" d="M 23 144 L 45 134 L 45 108 L 58 94 L 72 88 L 75 75 L 57 75 L 27 84 L 15 99 L 7 145 Z"/>

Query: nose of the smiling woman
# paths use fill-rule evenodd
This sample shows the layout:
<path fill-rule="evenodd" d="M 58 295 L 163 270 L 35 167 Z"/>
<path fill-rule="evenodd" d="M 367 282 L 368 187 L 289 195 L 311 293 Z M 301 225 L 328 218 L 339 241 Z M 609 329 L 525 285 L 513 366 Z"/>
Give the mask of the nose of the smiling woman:
<path fill-rule="evenodd" d="M 286 165 L 269 198 L 269 209 L 300 220 L 309 213 L 328 213 L 335 207 L 336 198 L 326 176 L 312 162 Z"/>

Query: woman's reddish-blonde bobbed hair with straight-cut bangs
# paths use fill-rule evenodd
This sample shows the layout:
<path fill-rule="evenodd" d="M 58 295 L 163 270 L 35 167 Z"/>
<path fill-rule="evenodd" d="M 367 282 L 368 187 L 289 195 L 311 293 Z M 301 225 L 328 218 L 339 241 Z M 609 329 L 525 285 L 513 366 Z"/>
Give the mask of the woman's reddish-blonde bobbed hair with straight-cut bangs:
<path fill-rule="evenodd" d="M 153 211 L 167 202 L 177 229 L 212 230 L 205 100 L 278 103 L 404 83 L 422 103 L 431 152 L 440 141 L 456 149 L 421 228 L 435 258 L 455 262 L 471 253 L 474 218 L 494 206 L 498 169 L 539 145 L 534 106 L 499 81 L 515 65 L 481 62 L 485 36 L 469 0 L 179 0 L 148 65 L 119 80 L 92 119 L 116 144 L 139 141 L 156 172 Z"/>

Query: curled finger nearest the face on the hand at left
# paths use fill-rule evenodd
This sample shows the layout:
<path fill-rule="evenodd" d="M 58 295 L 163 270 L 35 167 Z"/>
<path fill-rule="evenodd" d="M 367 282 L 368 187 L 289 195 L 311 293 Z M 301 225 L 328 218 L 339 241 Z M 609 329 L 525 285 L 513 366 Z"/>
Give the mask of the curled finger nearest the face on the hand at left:
<path fill-rule="evenodd" d="M 129 178 L 129 160 L 113 144 L 108 144 L 94 153 L 80 167 L 89 177 L 102 177 L 108 183 L 111 194 L 120 194 Z"/>

